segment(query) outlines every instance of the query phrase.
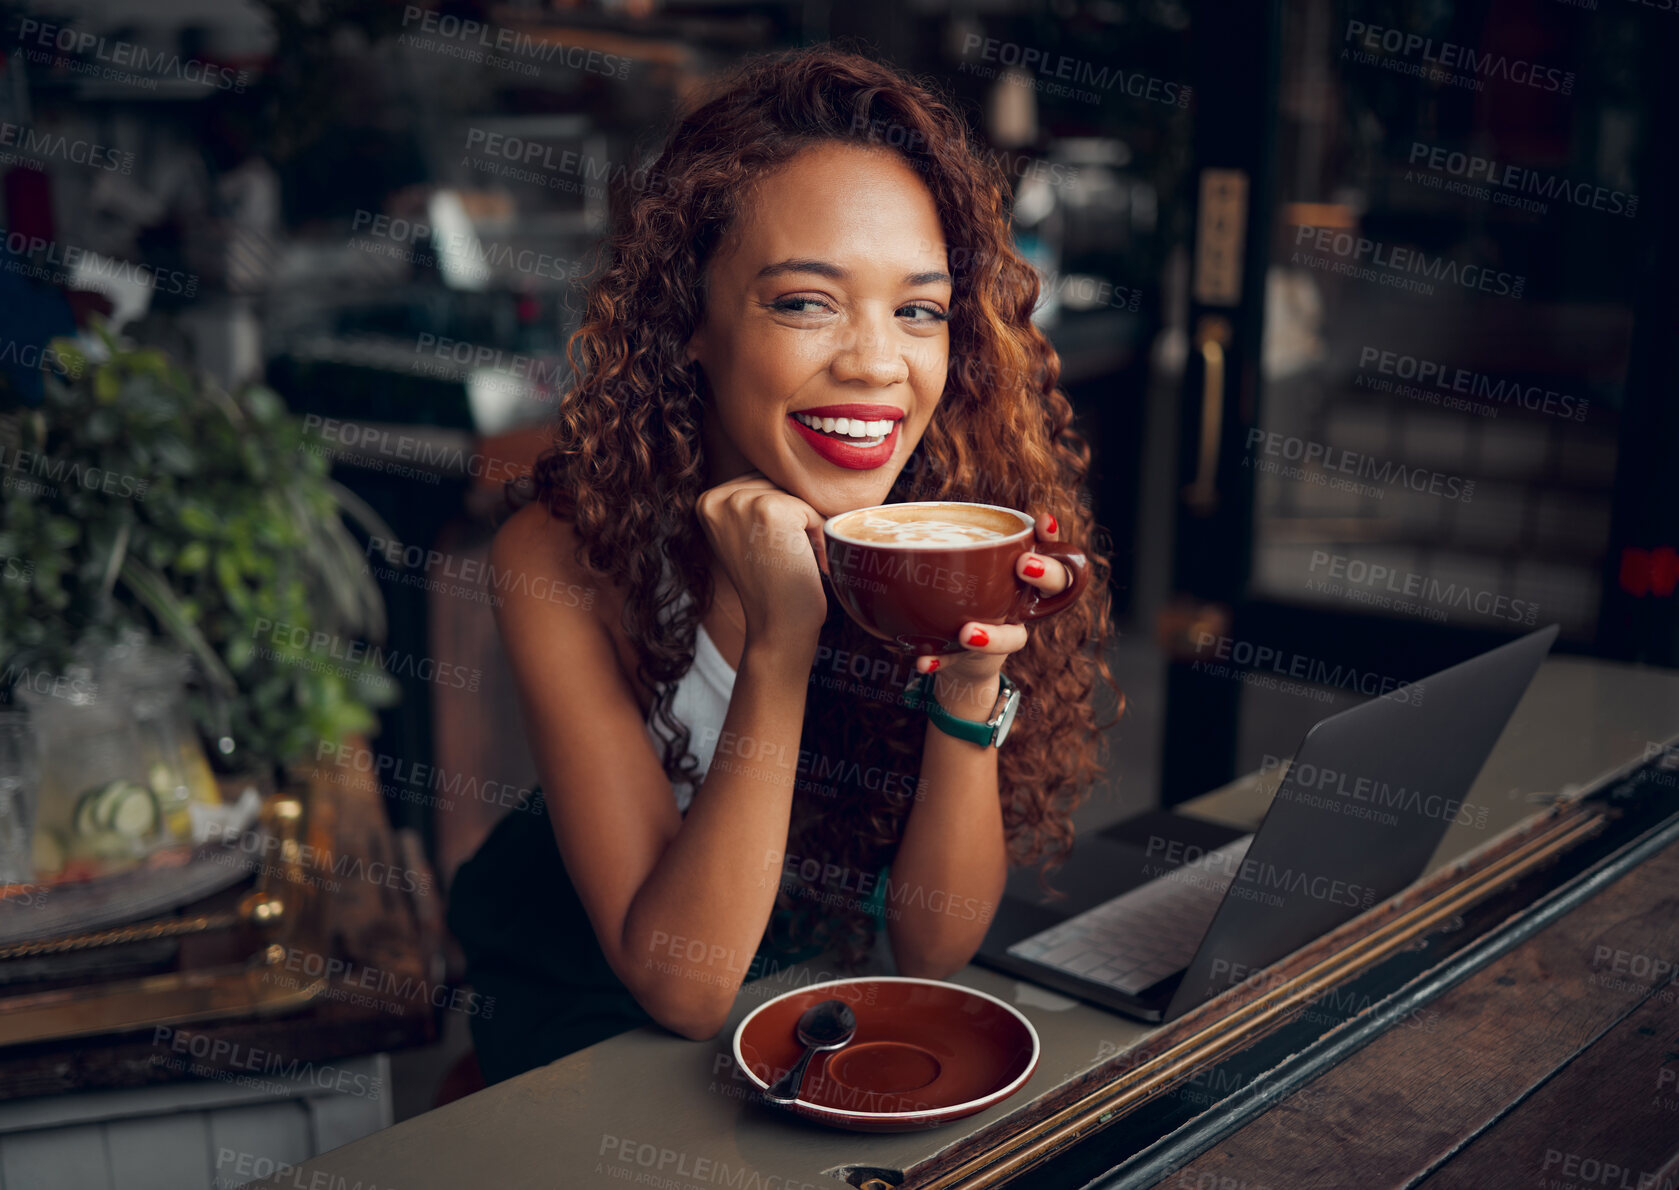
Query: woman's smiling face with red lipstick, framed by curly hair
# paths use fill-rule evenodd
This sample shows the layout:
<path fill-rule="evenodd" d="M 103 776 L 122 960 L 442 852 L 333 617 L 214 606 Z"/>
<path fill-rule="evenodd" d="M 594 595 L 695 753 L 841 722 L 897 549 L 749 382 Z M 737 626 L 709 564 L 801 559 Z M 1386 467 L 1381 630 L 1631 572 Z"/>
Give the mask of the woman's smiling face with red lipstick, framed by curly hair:
<path fill-rule="evenodd" d="M 710 485 L 757 470 L 824 517 L 883 504 L 950 349 L 944 232 L 915 171 L 878 149 L 801 151 L 752 190 L 707 282 L 688 356 L 714 394 Z"/>

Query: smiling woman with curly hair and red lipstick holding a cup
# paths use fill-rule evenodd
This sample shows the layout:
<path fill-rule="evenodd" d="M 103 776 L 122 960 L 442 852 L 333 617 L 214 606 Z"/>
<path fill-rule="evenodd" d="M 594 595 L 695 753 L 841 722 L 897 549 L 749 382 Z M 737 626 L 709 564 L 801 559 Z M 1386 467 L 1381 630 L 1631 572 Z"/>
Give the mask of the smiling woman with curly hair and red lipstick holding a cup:
<path fill-rule="evenodd" d="M 742 980 L 855 965 L 881 925 L 902 973 L 954 973 L 1007 864 L 1063 853 L 1100 772 L 1090 450 L 1004 178 L 960 117 L 853 54 L 767 55 L 677 121 L 648 176 L 536 498 L 492 552 L 601 598 L 499 609 L 546 812 L 509 816 L 452 891 L 495 997 L 472 1020 L 490 1081 L 650 1020 L 710 1037 Z M 1086 551 L 1090 589 L 895 665 L 824 589 L 821 524 L 913 500 L 1023 509 L 1039 549 Z M 1070 581 L 1038 552 L 1014 574 Z M 905 698 L 917 673 L 942 715 Z M 997 722 L 1011 688 L 1007 747 L 952 730 Z"/>

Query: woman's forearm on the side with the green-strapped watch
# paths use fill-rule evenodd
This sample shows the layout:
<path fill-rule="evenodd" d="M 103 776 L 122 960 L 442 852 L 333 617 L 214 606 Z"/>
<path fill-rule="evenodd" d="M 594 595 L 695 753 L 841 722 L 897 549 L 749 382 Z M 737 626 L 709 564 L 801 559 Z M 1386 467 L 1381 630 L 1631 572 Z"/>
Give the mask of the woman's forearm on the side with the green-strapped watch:
<path fill-rule="evenodd" d="M 935 675 L 934 697 L 952 715 L 984 722 L 999 685 Z M 915 806 L 887 881 L 887 938 L 898 973 L 945 979 L 965 967 L 1006 878 L 997 749 L 928 722 Z"/>

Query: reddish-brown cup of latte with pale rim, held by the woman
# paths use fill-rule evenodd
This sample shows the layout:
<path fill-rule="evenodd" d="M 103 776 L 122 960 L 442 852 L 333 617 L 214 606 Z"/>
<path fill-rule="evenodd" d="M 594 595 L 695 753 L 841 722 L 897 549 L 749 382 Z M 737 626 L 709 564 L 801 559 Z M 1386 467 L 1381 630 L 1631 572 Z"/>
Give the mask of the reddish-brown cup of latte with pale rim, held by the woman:
<path fill-rule="evenodd" d="M 947 522 L 927 529 L 928 522 Z M 1039 547 L 1016 509 L 915 500 L 853 509 L 823 522 L 828 581 L 840 606 L 871 636 L 912 656 L 962 653 L 962 624 L 1024 624 L 1068 608 L 1085 591 L 1083 552 Z M 964 534 L 972 530 L 972 539 Z M 1014 574 L 1021 554 L 1053 557 L 1073 576 L 1054 596 Z"/>

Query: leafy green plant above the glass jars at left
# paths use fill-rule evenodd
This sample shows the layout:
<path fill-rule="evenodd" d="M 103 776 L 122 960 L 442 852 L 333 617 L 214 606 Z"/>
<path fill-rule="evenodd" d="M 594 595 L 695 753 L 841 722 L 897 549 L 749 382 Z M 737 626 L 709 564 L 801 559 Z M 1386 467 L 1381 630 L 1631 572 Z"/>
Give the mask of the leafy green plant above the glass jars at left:
<path fill-rule="evenodd" d="M 99 339 L 99 358 L 54 344 L 44 403 L 0 441 L 3 685 L 139 628 L 196 660 L 193 718 L 223 767 L 275 777 L 373 733 L 398 686 L 359 648 L 383 643 L 384 604 L 344 517 L 391 530 L 269 389 Z"/>

